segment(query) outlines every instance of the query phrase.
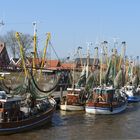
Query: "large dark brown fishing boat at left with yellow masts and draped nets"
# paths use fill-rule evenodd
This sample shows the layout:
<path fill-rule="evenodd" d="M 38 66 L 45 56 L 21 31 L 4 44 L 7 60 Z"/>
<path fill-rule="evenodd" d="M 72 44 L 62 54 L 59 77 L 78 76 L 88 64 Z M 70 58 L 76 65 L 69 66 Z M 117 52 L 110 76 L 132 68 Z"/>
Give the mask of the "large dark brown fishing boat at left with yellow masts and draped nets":
<path fill-rule="evenodd" d="M 21 36 L 18 32 L 16 32 L 16 38 L 20 47 L 25 80 L 24 83 L 22 82 L 14 88 L 7 87 L 4 81 L 1 82 L 0 135 L 33 130 L 45 125 L 51 121 L 56 107 L 55 100 L 49 95 L 57 83 L 47 91 L 38 87 L 34 79 L 36 51 L 34 52 L 33 69 L 27 69 Z M 34 33 L 34 43 L 36 43 L 36 32 Z M 34 50 L 36 50 L 36 44 L 34 44 Z"/>

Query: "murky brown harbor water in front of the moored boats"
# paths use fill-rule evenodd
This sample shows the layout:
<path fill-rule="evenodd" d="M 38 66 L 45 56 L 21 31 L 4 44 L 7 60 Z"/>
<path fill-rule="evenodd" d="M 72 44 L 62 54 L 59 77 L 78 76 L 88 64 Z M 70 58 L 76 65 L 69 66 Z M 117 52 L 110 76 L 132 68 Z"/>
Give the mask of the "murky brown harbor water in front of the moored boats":
<path fill-rule="evenodd" d="M 116 115 L 57 110 L 52 122 L 29 132 L 0 136 L 0 140 L 140 139 L 140 103 L 128 104 Z"/>

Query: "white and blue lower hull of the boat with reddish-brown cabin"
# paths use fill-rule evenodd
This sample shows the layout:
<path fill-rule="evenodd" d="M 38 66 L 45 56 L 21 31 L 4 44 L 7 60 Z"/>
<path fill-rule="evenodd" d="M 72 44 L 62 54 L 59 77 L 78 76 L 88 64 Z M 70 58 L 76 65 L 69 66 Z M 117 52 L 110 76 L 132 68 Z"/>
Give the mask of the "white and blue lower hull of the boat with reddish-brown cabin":
<path fill-rule="evenodd" d="M 91 113 L 91 114 L 117 114 L 124 111 L 126 109 L 126 106 L 127 103 L 114 108 L 111 108 L 110 106 L 108 107 L 86 106 L 85 110 L 87 113 Z"/>

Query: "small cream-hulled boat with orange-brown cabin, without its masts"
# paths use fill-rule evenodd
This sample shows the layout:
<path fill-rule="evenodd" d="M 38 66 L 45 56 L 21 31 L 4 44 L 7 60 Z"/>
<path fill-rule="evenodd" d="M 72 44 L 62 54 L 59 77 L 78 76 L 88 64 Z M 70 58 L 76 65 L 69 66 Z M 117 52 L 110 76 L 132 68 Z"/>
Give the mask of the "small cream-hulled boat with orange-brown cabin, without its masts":
<path fill-rule="evenodd" d="M 82 111 L 85 105 L 85 92 L 82 88 L 67 88 L 67 95 L 63 97 L 60 109 L 65 111 Z"/>

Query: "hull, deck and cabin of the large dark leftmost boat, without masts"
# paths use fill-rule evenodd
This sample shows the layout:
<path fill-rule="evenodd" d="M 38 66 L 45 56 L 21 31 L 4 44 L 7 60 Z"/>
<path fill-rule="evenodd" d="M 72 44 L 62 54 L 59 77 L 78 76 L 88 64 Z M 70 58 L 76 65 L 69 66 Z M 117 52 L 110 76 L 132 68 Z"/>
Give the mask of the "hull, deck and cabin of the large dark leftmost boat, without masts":
<path fill-rule="evenodd" d="M 24 106 L 21 97 L 8 97 L 0 91 L 0 135 L 33 130 L 51 121 L 54 99 L 30 101 Z"/>

